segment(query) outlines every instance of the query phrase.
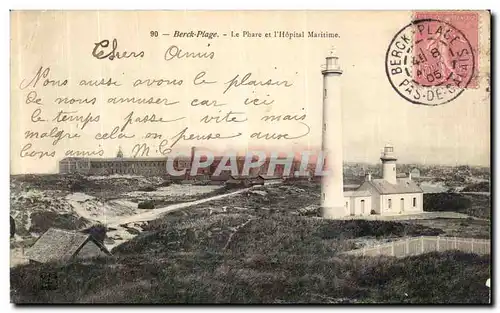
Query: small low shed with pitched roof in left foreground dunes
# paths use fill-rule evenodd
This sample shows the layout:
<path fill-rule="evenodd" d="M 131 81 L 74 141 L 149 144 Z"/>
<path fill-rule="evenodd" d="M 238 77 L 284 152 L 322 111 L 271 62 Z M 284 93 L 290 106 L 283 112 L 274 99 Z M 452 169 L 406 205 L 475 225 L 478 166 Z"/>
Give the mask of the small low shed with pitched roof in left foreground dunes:
<path fill-rule="evenodd" d="M 36 263 L 70 263 L 106 255 L 111 253 L 92 235 L 56 228 L 47 230 L 25 253 L 30 262 Z"/>

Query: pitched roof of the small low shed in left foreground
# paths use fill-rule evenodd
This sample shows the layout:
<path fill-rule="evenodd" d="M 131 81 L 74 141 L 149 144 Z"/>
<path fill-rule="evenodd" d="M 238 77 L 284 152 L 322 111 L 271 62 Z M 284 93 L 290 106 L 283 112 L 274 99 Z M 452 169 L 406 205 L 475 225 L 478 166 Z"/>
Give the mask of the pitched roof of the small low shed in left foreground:
<path fill-rule="evenodd" d="M 38 238 L 25 255 L 28 259 L 40 263 L 67 262 L 88 241 L 95 243 L 104 253 L 111 254 L 102 243 L 89 234 L 50 228 Z"/>

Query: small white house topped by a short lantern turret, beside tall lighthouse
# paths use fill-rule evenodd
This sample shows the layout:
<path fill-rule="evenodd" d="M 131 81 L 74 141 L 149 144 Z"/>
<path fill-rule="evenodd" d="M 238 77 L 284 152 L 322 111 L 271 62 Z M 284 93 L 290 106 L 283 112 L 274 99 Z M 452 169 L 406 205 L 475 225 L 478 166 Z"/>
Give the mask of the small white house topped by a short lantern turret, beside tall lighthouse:
<path fill-rule="evenodd" d="M 368 191 L 371 194 L 371 211 L 374 214 L 405 214 L 423 212 L 423 191 L 411 179 L 396 177 L 396 161 L 394 148 L 384 147 L 380 157 L 383 174 L 381 179 L 372 179 L 367 175 L 365 182 L 357 191 Z"/>

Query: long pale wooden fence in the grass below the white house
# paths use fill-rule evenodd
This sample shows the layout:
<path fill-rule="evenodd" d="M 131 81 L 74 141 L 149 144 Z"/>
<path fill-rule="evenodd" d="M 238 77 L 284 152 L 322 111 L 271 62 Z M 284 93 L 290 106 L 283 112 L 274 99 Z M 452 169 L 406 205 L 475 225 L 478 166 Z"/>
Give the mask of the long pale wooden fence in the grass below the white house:
<path fill-rule="evenodd" d="M 374 247 L 351 250 L 346 252 L 346 254 L 356 256 L 387 255 L 401 258 L 446 250 L 460 250 L 475 254 L 490 254 L 491 246 L 489 239 L 422 236 L 392 241 Z"/>

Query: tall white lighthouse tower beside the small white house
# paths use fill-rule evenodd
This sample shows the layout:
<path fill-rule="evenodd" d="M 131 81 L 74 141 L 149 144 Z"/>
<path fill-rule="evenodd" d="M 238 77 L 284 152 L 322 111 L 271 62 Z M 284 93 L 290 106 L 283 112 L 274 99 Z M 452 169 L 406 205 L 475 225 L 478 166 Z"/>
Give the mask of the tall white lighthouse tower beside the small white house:
<path fill-rule="evenodd" d="M 333 54 L 333 53 L 332 53 Z M 344 207 L 342 167 L 342 106 L 339 58 L 328 56 L 323 74 L 323 141 L 325 165 L 328 174 L 321 182 L 321 215 L 334 218 L 347 215 Z"/>

